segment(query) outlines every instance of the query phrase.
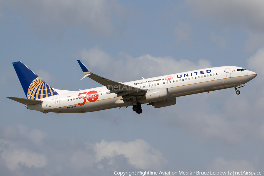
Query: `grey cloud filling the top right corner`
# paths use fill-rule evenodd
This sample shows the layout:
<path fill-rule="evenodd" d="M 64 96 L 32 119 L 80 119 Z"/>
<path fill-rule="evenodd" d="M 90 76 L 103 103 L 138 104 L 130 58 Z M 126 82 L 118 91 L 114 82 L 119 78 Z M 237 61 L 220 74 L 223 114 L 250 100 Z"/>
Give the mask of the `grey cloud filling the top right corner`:
<path fill-rule="evenodd" d="M 264 45 L 264 1 L 187 0 L 186 4 L 192 8 L 194 18 L 211 19 L 210 24 L 217 28 L 241 28 L 246 31 L 246 50 Z"/>

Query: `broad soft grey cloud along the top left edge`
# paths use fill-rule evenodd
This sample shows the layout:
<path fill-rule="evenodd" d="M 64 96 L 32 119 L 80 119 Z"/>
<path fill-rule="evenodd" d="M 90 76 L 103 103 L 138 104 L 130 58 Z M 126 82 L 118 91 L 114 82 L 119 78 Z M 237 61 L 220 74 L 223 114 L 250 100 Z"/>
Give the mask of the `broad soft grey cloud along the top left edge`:
<path fill-rule="evenodd" d="M 79 27 L 109 36 L 114 31 L 112 15 L 121 16 L 124 12 L 116 1 L 107 0 L 2 0 L 1 4 L 8 4 L 16 13 L 30 19 L 31 27 L 38 33 L 63 33 L 67 28 Z"/>

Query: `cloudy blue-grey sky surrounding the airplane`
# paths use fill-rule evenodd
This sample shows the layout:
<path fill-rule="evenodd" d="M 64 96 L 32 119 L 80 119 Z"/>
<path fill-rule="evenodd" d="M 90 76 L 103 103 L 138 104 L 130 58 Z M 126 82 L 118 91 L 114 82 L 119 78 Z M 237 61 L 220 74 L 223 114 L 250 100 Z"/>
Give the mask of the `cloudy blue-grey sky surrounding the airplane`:
<path fill-rule="evenodd" d="M 1 175 L 264 172 L 264 1 L 0 0 Z M 90 113 L 27 110 L 12 62 L 55 89 L 217 66 L 257 73 L 240 88 Z"/>

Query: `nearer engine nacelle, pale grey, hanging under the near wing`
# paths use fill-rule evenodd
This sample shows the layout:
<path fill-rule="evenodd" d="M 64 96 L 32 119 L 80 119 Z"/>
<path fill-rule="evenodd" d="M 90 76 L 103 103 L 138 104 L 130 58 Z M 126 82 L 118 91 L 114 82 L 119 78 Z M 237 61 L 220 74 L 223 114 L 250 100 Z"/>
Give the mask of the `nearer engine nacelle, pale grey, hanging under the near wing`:
<path fill-rule="evenodd" d="M 161 101 L 169 98 L 168 88 L 152 89 L 144 95 L 146 101 Z"/>

